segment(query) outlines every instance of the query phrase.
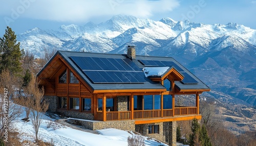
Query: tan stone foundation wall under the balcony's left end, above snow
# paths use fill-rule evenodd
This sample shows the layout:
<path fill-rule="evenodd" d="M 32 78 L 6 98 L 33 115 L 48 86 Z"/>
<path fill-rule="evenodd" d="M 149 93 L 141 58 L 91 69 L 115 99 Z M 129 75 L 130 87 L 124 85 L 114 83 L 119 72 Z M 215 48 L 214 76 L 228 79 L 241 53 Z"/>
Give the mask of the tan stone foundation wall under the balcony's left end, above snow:
<path fill-rule="evenodd" d="M 100 130 L 115 128 L 120 130 L 135 131 L 134 120 L 120 120 L 120 121 L 96 121 L 96 120 L 75 120 L 84 128 L 90 130 Z"/>

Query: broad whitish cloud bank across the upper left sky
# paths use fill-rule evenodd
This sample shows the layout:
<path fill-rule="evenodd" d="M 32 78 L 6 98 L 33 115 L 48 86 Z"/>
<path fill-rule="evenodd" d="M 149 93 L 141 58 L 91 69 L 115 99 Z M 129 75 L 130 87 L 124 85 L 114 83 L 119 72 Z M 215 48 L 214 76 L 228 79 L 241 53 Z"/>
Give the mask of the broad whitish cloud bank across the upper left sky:
<path fill-rule="evenodd" d="M 150 17 L 155 13 L 172 11 L 179 6 L 178 0 L 1 0 L 0 4 L 0 14 L 7 17 L 11 17 L 13 11 L 16 11 L 22 12 L 19 13 L 20 17 L 71 22 L 117 14 Z"/>

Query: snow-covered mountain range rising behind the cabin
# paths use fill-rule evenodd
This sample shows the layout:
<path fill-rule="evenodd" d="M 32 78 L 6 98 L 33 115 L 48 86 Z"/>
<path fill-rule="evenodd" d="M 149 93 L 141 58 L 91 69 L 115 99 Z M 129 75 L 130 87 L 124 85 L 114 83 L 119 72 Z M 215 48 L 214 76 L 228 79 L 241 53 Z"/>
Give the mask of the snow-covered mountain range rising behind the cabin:
<path fill-rule="evenodd" d="M 256 105 L 256 30 L 237 23 L 206 25 L 116 15 L 98 25 L 60 26 L 58 31 L 34 28 L 17 35 L 17 40 L 37 57 L 44 48 L 125 54 L 126 46 L 133 44 L 138 55 L 178 60 L 209 85 L 210 96 Z"/>

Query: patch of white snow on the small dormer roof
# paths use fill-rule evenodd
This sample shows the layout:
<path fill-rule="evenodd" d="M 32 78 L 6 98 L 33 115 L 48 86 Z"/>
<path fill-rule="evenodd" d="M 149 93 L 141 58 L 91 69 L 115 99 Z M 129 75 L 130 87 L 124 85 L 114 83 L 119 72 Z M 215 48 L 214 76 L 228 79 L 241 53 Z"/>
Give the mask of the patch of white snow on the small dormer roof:
<path fill-rule="evenodd" d="M 144 67 L 143 71 L 146 77 L 150 76 L 162 76 L 170 67 Z"/>

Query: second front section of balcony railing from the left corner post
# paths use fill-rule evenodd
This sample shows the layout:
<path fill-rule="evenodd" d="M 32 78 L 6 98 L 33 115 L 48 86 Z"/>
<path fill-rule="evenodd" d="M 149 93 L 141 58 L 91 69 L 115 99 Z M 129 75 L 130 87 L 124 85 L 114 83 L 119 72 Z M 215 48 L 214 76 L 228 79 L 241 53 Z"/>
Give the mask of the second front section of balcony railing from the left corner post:
<path fill-rule="evenodd" d="M 134 111 L 134 119 L 157 118 L 161 117 L 161 110 L 136 110 Z"/>

